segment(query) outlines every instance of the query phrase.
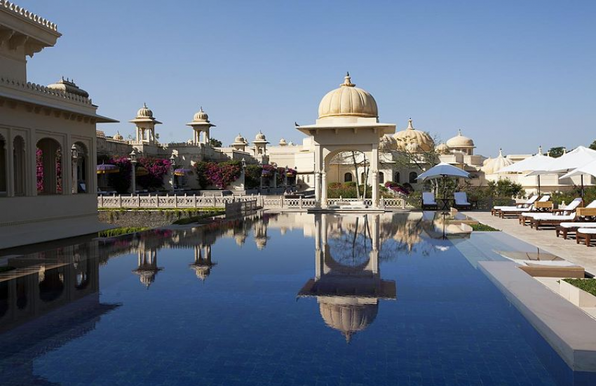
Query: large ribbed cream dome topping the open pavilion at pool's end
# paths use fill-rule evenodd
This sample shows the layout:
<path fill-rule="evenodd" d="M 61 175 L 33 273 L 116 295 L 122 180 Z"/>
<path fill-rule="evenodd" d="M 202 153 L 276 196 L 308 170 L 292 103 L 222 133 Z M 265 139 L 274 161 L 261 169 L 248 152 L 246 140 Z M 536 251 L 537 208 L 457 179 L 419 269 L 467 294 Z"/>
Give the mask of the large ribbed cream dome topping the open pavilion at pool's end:
<path fill-rule="evenodd" d="M 319 119 L 332 117 L 377 118 L 379 111 L 372 95 L 362 88 L 355 87 L 350 74 L 344 83 L 327 93 L 319 103 Z"/>

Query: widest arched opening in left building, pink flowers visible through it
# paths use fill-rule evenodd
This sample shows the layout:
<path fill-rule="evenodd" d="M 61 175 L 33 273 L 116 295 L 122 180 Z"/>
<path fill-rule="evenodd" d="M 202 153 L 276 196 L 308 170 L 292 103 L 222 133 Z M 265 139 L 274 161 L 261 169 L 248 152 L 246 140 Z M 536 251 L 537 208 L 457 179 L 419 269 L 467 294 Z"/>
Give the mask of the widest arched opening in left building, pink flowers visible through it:
<path fill-rule="evenodd" d="M 62 149 L 51 138 L 37 142 L 37 194 L 62 194 Z"/>

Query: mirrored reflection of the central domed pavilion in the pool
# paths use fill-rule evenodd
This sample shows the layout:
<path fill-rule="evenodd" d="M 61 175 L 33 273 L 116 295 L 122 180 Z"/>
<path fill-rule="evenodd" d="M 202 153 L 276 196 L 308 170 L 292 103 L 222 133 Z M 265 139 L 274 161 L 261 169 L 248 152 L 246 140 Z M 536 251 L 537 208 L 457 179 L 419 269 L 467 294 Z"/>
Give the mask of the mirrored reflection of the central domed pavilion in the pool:
<path fill-rule="evenodd" d="M 346 342 L 372 324 L 379 300 L 397 298 L 395 281 L 379 271 L 379 228 L 379 215 L 315 215 L 315 277 L 298 296 L 316 297 L 325 324 Z"/>

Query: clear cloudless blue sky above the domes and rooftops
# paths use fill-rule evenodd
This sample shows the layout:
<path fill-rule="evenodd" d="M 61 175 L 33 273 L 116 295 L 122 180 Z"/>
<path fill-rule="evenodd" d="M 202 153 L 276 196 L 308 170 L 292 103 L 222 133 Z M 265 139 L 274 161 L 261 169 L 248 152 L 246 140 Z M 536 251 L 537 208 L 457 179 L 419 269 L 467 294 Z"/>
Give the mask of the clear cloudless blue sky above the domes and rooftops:
<path fill-rule="evenodd" d="M 229 144 L 262 130 L 300 142 L 346 71 L 381 121 L 477 152 L 569 149 L 596 139 L 596 1 L 19 0 L 63 36 L 29 81 L 68 76 L 134 133 L 143 102 L 161 142 L 191 138 L 199 105 Z"/>

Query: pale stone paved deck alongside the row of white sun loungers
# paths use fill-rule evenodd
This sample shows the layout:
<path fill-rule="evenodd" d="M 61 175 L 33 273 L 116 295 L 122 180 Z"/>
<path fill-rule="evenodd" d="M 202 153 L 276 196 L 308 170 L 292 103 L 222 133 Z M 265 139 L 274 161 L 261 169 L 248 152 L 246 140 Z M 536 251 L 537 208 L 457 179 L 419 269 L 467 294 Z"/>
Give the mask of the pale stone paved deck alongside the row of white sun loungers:
<path fill-rule="evenodd" d="M 596 275 L 596 248 L 587 247 L 584 244 L 576 244 L 574 238 L 564 240 L 558 237 L 553 229 L 536 230 L 519 224 L 517 218 L 497 218 L 490 212 L 466 212 L 466 215 L 490 225 L 496 229 L 501 229 L 506 234 L 510 234 L 517 239 L 527 242 L 564 258 L 574 264 L 584 267 L 586 272 Z"/>

